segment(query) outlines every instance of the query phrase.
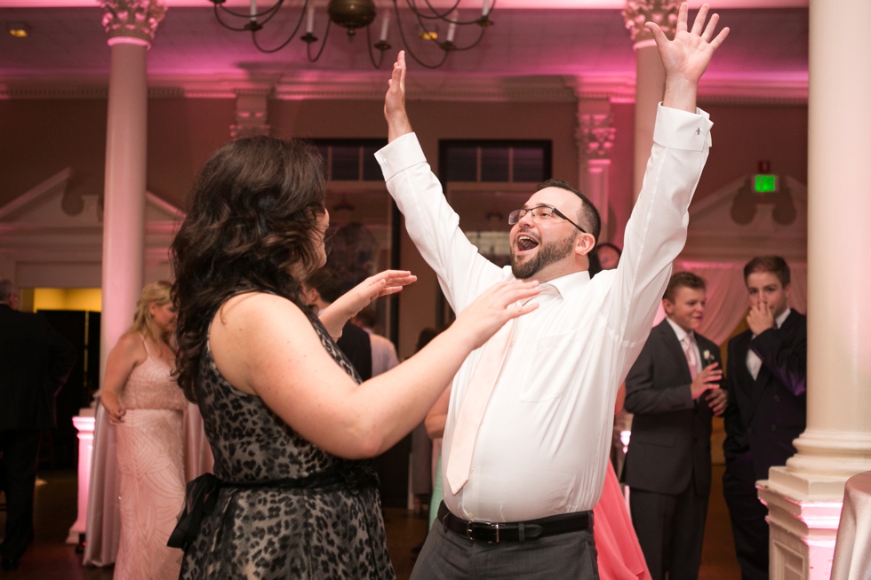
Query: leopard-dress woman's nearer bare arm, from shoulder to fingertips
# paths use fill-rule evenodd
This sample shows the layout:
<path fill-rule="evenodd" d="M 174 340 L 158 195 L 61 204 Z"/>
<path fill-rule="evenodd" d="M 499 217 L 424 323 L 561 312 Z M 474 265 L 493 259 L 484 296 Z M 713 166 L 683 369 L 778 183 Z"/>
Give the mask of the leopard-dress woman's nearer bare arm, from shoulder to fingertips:
<path fill-rule="evenodd" d="M 212 323 L 212 355 L 231 385 L 308 441 L 340 457 L 374 457 L 420 424 L 469 353 L 538 305 L 507 306 L 538 291 L 535 282 L 496 284 L 420 353 L 362 385 L 327 354 L 306 315 L 273 295 L 228 300 Z"/>

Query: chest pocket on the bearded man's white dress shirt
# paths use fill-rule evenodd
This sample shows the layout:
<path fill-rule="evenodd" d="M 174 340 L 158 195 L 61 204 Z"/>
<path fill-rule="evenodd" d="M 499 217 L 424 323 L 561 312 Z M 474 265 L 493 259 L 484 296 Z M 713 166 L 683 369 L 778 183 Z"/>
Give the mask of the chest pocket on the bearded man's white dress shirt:
<path fill-rule="evenodd" d="M 563 332 L 541 338 L 531 352 L 528 367 L 523 373 L 520 400 L 523 402 L 551 401 L 565 393 L 569 377 L 559 372 L 561 365 L 569 363 L 571 344 L 578 340 L 578 331 Z M 573 366 L 573 365 L 570 365 Z"/>

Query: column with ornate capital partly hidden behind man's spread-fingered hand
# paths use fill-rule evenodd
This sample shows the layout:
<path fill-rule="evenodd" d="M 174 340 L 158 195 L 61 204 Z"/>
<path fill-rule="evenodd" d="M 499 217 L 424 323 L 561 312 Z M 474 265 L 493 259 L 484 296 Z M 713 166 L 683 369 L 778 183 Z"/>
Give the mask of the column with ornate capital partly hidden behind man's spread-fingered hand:
<path fill-rule="evenodd" d="M 659 60 L 653 36 L 644 23 L 659 24 L 669 38 L 675 37 L 675 22 L 680 4 L 675 0 L 629 0 L 623 10 L 626 28 L 632 33 L 635 50 L 635 163 L 632 198 L 638 198 L 644 179 L 644 169 L 653 147 L 653 124 L 656 107 L 662 100 L 666 72 Z"/>

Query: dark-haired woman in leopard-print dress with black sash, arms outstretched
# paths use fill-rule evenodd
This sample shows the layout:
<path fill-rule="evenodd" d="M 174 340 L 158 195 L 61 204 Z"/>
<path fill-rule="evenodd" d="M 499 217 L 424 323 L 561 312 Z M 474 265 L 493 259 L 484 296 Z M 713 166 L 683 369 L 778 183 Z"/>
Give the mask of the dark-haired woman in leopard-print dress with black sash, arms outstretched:
<path fill-rule="evenodd" d="M 214 476 L 188 484 L 171 544 L 181 578 L 394 578 L 369 457 L 418 425 L 467 355 L 538 293 L 498 284 L 408 362 L 361 383 L 334 339 L 415 277 L 367 279 L 318 318 L 300 282 L 324 265 L 323 163 L 297 141 L 240 139 L 205 163 L 172 244 L 179 385 L 198 401 Z"/>

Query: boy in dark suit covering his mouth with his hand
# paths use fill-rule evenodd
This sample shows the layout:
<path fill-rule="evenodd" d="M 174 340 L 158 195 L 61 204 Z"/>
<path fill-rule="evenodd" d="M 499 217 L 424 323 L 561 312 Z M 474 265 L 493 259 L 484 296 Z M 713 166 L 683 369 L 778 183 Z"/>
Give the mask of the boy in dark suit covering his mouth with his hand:
<path fill-rule="evenodd" d="M 749 330 L 729 341 L 723 496 L 745 580 L 768 578 L 767 510 L 756 480 L 795 454 L 806 417 L 807 319 L 787 307 L 789 266 L 779 256 L 744 266 Z"/>

